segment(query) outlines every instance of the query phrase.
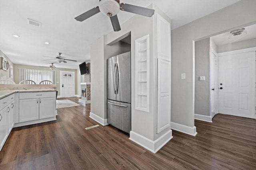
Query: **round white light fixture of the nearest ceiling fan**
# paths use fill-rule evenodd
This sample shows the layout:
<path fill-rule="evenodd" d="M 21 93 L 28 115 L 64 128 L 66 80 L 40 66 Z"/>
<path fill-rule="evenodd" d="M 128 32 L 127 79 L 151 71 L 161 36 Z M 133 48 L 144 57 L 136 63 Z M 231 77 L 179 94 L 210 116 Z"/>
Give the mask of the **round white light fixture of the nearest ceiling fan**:
<path fill-rule="evenodd" d="M 106 16 L 115 16 L 120 11 L 120 5 L 116 0 L 100 0 L 99 8 Z"/>

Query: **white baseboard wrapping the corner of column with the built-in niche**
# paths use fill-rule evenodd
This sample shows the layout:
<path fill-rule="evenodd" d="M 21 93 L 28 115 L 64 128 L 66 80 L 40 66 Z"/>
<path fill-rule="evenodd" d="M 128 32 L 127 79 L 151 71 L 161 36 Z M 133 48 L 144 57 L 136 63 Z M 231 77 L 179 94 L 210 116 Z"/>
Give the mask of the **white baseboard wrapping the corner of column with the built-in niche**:
<path fill-rule="evenodd" d="M 134 141 L 138 145 L 144 147 L 145 149 L 156 153 L 159 149 L 161 149 L 168 141 L 172 139 L 172 130 L 170 129 L 168 132 L 164 133 L 160 138 L 152 141 L 138 133 L 130 131 L 131 141 Z"/>

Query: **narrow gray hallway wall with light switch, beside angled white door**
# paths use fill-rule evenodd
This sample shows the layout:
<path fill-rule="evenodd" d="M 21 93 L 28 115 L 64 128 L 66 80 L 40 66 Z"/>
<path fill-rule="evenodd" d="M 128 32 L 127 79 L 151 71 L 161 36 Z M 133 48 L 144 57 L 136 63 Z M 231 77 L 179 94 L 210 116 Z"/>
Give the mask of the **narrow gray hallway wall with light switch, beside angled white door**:
<path fill-rule="evenodd" d="M 210 38 L 195 42 L 195 114 L 210 116 Z"/>

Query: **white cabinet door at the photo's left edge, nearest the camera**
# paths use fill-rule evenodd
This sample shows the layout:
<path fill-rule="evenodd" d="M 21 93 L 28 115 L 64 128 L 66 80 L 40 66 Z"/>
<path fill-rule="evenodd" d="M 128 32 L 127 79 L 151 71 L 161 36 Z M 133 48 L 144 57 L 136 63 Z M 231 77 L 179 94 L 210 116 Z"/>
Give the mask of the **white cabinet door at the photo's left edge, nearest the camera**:
<path fill-rule="evenodd" d="M 0 150 L 4 146 L 7 133 L 7 106 L 0 111 Z"/>

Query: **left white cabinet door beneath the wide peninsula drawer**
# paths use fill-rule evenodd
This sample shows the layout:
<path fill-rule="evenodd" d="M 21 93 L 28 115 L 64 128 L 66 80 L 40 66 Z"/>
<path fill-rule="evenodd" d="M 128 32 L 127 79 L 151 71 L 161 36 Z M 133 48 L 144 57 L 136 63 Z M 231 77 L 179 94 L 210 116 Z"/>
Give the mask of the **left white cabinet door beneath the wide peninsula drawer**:
<path fill-rule="evenodd" d="M 39 99 L 21 99 L 19 108 L 19 122 L 39 119 Z"/>

